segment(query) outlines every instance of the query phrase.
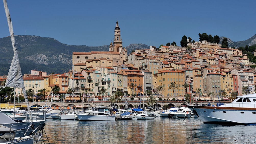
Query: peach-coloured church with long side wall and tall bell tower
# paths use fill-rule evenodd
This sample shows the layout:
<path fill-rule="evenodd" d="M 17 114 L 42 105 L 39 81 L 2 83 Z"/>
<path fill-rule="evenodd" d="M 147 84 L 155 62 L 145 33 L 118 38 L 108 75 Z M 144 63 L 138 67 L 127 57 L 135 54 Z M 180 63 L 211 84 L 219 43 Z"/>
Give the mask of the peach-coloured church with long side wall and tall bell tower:
<path fill-rule="evenodd" d="M 96 67 L 113 67 L 127 64 L 127 50 L 122 46 L 121 30 L 118 21 L 114 30 L 114 41 L 110 43 L 109 51 L 73 52 L 72 62 L 75 71 L 95 69 Z"/>

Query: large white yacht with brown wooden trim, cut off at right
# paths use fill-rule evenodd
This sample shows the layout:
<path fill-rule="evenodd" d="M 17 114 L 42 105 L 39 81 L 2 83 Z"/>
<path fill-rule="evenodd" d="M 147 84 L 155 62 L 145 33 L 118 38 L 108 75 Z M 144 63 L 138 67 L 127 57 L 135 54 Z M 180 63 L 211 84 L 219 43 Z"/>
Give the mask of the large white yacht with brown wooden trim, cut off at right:
<path fill-rule="evenodd" d="M 204 123 L 256 124 L 256 94 L 237 96 L 228 104 L 211 106 L 188 105 Z"/>

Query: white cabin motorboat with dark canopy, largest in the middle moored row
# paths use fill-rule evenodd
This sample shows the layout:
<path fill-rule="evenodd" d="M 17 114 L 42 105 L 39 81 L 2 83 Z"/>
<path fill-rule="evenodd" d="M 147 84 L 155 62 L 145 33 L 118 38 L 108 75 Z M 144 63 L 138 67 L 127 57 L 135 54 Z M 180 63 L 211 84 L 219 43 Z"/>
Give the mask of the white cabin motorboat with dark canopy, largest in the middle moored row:
<path fill-rule="evenodd" d="M 77 114 L 77 118 L 80 121 L 115 120 L 115 114 L 113 114 L 112 108 L 98 106 L 85 111 L 83 114 Z"/>

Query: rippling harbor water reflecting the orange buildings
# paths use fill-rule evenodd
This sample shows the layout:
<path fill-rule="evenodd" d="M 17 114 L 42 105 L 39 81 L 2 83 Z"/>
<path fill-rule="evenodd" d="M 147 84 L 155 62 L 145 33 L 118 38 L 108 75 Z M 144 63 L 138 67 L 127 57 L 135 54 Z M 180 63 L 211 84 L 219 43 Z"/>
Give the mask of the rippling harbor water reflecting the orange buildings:
<path fill-rule="evenodd" d="M 255 125 L 204 124 L 199 118 L 78 121 L 47 120 L 51 144 L 78 143 L 255 143 Z M 43 135 L 45 143 L 46 136 Z"/>

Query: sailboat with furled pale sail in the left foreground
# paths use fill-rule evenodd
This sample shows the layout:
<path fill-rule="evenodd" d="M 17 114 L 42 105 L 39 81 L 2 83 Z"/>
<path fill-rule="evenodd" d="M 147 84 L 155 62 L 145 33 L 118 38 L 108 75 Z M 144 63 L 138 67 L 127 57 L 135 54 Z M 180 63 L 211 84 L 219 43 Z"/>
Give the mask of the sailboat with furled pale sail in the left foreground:
<path fill-rule="evenodd" d="M 21 73 L 21 69 L 20 69 L 20 64 L 19 64 L 19 58 L 18 58 L 18 53 L 17 53 L 17 49 L 16 49 L 16 44 L 15 44 L 15 40 L 14 40 L 14 32 L 13 32 L 13 26 L 12 26 L 12 21 L 10 18 L 10 13 L 9 13 L 9 9 L 7 6 L 7 2 L 6 0 L 3 0 L 4 2 L 4 8 L 5 8 L 5 14 L 6 14 L 6 18 L 7 18 L 7 22 L 8 22 L 8 27 L 9 27 L 9 32 L 10 32 L 10 38 L 12 41 L 12 46 L 13 46 L 13 52 L 14 52 L 14 57 L 12 60 L 12 63 L 10 65 L 10 69 L 7 75 L 7 79 L 6 79 L 6 83 L 3 86 L 2 90 L 5 87 L 18 87 L 18 88 L 22 88 L 23 91 L 23 95 L 25 98 L 25 102 L 27 107 L 29 108 L 29 103 L 28 103 L 28 98 L 27 98 L 27 94 L 26 94 L 26 90 L 25 90 L 25 86 L 24 86 L 24 82 L 23 82 L 23 77 L 22 77 L 22 73 Z M 1 113 L 0 112 L 0 125 L 2 125 L 4 128 L 8 128 L 10 129 L 10 131 L 14 131 L 15 133 L 15 137 L 25 137 L 25 136 L 29 136 L 29 139 L 23 139 L 22 142 L 19 142 L 17 139 L 12 138 L 9 139 L 8 141 L 6 141 L 6 143 L 34 143 L 34 137 L 35 133 L 39 130 L 42 129 L 45 125 L 45 119 L 43 120 L 33 120 L 31 118 L 31 113 L 30 113 L 30 109 L 28 109 L 28 114 L 29 114 L 29 119 L 23 120 L 23 121 L 19 121 L 19 120 L 15 120 L 14 118 L 10 118 L 8 117 L 5 113 Z M 1 131 L 0 131 L 1 133 Z M 31 140 L 33 139 L 33 140 Z M 25 141 L 25 142 L 24 142 Z M 32 142 L 31 142 L 32 141 Z"/>

